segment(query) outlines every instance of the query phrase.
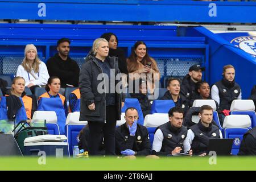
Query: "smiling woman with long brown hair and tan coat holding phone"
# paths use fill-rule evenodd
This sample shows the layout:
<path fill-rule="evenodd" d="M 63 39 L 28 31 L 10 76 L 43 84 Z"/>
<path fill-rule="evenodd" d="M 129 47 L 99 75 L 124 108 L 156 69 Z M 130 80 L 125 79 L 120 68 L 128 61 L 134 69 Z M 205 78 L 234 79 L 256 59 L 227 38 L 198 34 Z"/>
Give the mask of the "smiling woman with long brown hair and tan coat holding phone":
<path fill-rule="evenodd" d="M 154 82 L 160 79 L 160 73 L 156 61 L 148 55 L 144 42 L 138 41 L 134 44 L 133 51 L 127 59 L 127 69 L 131 80 L 146 79 L 150 93 L 154 92 Z M 149 73 L 152 75 L 148 76 Z"/>

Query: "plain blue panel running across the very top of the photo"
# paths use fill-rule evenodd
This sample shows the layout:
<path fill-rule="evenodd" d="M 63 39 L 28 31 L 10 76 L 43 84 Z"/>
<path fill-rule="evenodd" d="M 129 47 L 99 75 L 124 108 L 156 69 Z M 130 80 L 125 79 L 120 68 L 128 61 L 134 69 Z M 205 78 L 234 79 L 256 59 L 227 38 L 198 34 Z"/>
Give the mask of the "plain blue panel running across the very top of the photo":
<path fill-rule="evenodd" d="M 1 19 L 255 23 L 255 2 L 0 1 Z M 213 8 L 214 6 L 214 8 Z M 56 9 L 57 7 L 57 9 Z M 216 7 L 216 14 L 209 15 Z"/>

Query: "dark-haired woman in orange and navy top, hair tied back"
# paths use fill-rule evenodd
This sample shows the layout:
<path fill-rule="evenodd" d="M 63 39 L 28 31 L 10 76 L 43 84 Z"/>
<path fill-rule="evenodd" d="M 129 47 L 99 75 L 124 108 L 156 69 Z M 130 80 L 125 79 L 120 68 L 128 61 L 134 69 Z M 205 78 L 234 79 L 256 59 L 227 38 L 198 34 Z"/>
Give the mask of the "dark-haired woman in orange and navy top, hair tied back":
<path fill-rule="evenodd" d="M 67 107 L 67 101 L 66 98 L 61 95 L 60 93 L 60 78 L 56 76 L 49 77 L 47 84 L 46 84 L 46 93 L 43 93 L 41 96 L 39 96 L 38 100 L 42 97 L 46 98 L 57 98 L 59 97 L 62 101 L 62 104 L 65 109 L 65 115 L 67 117 L 68 115 L 68 107 Z"/>

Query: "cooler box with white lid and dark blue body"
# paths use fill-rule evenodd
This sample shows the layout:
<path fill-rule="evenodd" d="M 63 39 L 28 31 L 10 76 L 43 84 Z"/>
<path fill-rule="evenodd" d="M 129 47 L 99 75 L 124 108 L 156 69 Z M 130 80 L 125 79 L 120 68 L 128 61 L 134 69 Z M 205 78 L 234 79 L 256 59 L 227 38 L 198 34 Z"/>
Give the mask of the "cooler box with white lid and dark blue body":
<path fill-rule="evenodd" d="M 24 155 L 38 155 L 39 151 L 46 152 L 46 156 L 69 156 L 68 143 L 65 135 L 40 135 L 28 137 L 24 140 Z"/>

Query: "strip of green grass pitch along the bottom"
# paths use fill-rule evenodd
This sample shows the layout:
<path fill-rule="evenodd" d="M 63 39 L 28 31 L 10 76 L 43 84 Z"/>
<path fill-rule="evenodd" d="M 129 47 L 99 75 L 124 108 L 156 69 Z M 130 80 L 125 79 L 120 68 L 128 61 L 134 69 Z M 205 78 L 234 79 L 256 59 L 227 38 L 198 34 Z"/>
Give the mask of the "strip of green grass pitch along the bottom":
<path fill-rule="evenodd" d="M 182 170 L 256 170 L 256 157 L 217 157 L 217 164 L 210 156 L 176 156 L 160 159 L 121 158 L 46 158 L 46 164 L 38 157 L 1 157 L 0 170 L 90 170 L 90 171 L 182 171 Z"/>

